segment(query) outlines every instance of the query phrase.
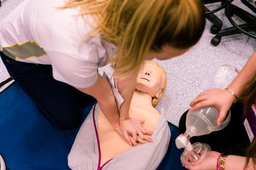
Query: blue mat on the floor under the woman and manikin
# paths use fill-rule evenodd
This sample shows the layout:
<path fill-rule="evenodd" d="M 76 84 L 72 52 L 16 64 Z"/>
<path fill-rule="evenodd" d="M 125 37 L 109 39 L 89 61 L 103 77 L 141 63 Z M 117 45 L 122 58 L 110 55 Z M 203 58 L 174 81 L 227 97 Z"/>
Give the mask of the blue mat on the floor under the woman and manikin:
<path fill-rule="evenodd" d="M 83 109 L 83 119 L 93 104 Z M 171 142 L 158 169 L 183 170 L 175 146 L 179 131 L 169 127 Z M 67 156 L 79 128 L 56 130 L 17 83 L 0 94 L 0 154 L 10 170 L 70 170 Z"/>

